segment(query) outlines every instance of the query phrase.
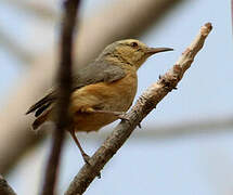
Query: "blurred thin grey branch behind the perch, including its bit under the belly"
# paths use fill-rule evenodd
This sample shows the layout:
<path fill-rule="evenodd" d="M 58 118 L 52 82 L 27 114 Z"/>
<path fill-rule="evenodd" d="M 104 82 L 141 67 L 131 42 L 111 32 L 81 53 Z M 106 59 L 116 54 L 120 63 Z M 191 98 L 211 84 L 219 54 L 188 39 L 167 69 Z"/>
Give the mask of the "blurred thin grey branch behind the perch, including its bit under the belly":
<path fill-rule="evenodd" d="M 153 127 L 144 127 L 143 131 L 135 131 L 133 140 L 131 141 L 155 141 L 169 139 L 189 139 L 193 135 L 216 135 L 222 133 L 233 133 L 233 116 L 212 116 L 211 118 L 199 118 L 196 120 L 182 120 L 171 123 L 156 125 Z M 88 139 L 91 142 L 100 142 L 103 138 L 109 134 L 108 131 L 100 131 L 98 133 L 90 133 Z M 80 134 L 79 139 L 85 139 L 85 134 Z"/>

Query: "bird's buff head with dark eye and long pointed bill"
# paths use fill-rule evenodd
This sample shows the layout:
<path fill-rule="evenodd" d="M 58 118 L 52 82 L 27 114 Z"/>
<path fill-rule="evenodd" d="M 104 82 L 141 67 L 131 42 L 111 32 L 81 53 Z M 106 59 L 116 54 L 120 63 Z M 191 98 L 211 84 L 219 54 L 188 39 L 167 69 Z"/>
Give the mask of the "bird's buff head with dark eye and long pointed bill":
<path fill-rule="evenodd" d="M 102 57 L 103 55 L 107 55 L 114 61 L 127 63 L 138 69 L 151 55 L 172 50 L 170 48 L 150 48 L 139 40 L 126 39 L 106 47 L 102 53 Z"/>

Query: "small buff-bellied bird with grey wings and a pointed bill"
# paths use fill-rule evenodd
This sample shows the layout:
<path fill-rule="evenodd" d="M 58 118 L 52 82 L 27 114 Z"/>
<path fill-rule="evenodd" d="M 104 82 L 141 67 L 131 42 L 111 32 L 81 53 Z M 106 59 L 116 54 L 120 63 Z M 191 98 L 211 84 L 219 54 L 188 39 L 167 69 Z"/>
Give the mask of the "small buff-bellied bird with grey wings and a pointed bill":
<path fill-rule="evenodd" d="M 125 39 L 108 44 L 90 64 L 78 68 L 73 76 L 68 113 L 72 123 L 68 132 L 76 142 L 86 162 L 89 156 L 82 150 L 76 132 L 98 131 L 102 127 L 124 119 L 138 89 L 138 69 L 153 54 L 172 51 L 171 48 L 150 48 L 137 39 Z M 26 114 L 35 113 L 33 129 L 55 120 L 57 88 L 52 88 Z"/>

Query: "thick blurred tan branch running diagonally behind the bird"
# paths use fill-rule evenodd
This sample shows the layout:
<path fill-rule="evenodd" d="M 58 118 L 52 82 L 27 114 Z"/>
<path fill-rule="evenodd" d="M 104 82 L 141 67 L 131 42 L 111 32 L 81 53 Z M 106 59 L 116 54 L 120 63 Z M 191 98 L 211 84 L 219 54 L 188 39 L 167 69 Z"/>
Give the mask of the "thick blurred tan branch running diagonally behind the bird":
<path fill-rule="evenodd" d="M 142 35 L 145 27 L 158 24 L 163 16 L 168 15 L 169 10 L 181 2 L 184 1 L 138 0 L 135 3 L 135 0 L 118 0 L 99 10 L 91 17 L 83 20 L 79 26 L 78 56 L 82 60 L 79 58 L 78 64 L 86 65 L 106 44 L 116 39 Z M 119 10 L 125 15 L 117 14 Z M 2 173 L 12 168 L 24 151 L 41 140 L 30 131 L 31 119 L 23 117 L 22 114 L 51 86 L 56 58 L 52 51 L 55 50 L 51 49 L 35 60 L 31 72 L 24 75 L 25 79 L 22 83 L 17 83 L 17 89 L 12 90 L 8 103 L 1 109 L 0 172 Z"/>

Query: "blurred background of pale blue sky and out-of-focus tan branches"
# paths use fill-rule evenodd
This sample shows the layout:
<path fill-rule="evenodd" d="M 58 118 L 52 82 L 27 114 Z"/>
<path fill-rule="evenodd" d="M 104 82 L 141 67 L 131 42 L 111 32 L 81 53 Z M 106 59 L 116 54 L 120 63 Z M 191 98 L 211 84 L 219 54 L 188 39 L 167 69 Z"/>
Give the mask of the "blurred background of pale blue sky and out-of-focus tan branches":
<path fill-rule="evenodd" d="M 22 195 L 38 194 L 50 151 L 50 131 L 33 132 L 34 117 L 24 113 L 53 83 L 61 10 L 56 0 L 0 1 L 0 173 Z M 233 194 L 230 0 L 82 1 L 76 60 L 85 66 L 106 44 L 125 38 L 173 48 L 140 69 L 139 96 L 176 63 L 207 22 L 213 29 L 178 90 L 142 121 L 142 129 L 132 133 L 87 195 Z M 86 152 L 93 154 L 117 122 L 98 133 L 78 133 Z M 82 165 L 67 135 L 59 194 Z"/>

